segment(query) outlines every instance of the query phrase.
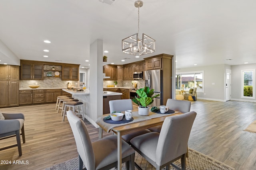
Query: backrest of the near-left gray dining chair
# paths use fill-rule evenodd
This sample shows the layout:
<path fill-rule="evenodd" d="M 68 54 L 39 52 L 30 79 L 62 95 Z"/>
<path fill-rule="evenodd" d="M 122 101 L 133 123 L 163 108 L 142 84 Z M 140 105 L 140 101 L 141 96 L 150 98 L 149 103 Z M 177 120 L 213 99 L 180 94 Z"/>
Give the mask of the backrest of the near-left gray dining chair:
<path fill-rule="evenodd" d="M 79 156 L 86 165 L 86 169 L 95 170 L 94 152 L 85 123 L 71 110 L 67 112 L 67 117 L 74 134 Z"/>

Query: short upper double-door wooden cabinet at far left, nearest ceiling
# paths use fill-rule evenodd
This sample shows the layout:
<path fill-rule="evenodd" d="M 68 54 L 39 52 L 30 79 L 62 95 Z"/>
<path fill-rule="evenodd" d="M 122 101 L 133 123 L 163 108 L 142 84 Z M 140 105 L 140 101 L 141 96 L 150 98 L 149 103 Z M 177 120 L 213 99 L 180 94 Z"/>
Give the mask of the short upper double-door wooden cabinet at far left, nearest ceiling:
<path fill-rule="evenodd" d="M 20 66 L 0 64 L 0 80 L 19 80 Z"/>

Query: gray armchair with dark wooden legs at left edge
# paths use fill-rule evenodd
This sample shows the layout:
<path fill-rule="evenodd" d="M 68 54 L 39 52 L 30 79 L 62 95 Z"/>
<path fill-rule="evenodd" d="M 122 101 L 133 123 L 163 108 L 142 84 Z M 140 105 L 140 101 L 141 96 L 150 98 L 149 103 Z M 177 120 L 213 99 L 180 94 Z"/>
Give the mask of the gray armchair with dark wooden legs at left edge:
<path fill-rule="evenodd" d="M 19 155 L 22 155 L 20 135 L 22 141 L 25 143 L 24 133 L 24 115 L 22 113 L 2 113 L 4 120 L 0 120 L 0 140 L 15 137 L 17 140 L 16 145 L 1 148 L 0 150 L 18 147 Z M 21 134 L 20 134 L 21 131 Z"/>

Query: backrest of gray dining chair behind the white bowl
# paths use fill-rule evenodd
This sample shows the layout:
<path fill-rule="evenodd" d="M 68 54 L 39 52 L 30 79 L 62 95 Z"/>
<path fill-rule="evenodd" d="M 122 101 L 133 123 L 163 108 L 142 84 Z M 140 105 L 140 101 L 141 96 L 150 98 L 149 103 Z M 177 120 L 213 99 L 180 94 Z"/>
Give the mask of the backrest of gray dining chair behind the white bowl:
<path fill-rule="evenodd" d="M 113 111 L 120 112 L 125 110 L 132 110 L 132 100 L 122 99 L 122 100 L 110 100 L 109 101 L 110 113 Z"/>

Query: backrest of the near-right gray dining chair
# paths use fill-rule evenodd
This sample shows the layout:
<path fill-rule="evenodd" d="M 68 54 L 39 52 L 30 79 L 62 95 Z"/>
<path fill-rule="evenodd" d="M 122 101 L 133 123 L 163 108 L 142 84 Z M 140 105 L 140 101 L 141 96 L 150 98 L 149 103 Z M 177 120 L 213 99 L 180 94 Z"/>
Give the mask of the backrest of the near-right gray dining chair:
<path fill-rule="evenodd" d="M 156 164 L 162 165 L 186 154 L 188 138 L 196 112 L 190 111 L 164 119 L 156 147 Z"/>

